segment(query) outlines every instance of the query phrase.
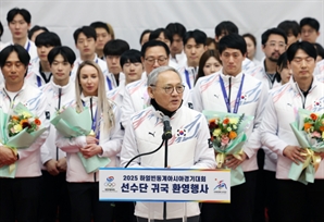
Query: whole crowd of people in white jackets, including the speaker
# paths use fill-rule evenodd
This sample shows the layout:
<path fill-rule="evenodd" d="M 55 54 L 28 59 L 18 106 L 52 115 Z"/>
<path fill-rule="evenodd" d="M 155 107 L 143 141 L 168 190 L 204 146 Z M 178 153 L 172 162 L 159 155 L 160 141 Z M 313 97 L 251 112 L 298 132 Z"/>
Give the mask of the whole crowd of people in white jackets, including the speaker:
<path fill-rule="evenodd" d="M 215 38 L 179 23 L 145 30 L 140 51 L 115 39 L 109 24 L 94 22 L 73 34 L 78 57 L 55 33 L 30 29 L 25 9 L 10 10 L 7 22 L 12 39 L 0 45 L 0 109 L 12 114 L 22 103 L 47 131 L 24 149 L 0 140 L 0 170 L 16 164 L 14 176 L 0 174 L 0 221 L 148 221 L 145 202 L 99 201 L 99 171 L 87 172 L 79 155 L 125 166 L 160 145 L 161 136 L 150 132 L 162 135 L 167 115 L 170 168 L 216 169 L 203 110 L 253 121 L 240 157 L 225 161 L 242 168 L 245 183 L 230 187 L 230 203 L 187 203 L 188 221 L 324 221 L 324 152 L 317 153 L 314 183 L 288 176 L 294 162 L 304 162 L 289 125 L 297 110 L 324 112 L 324 49 L 316 44 L 315 18 L 265 30 L 261 61 L 256 37 L 240 36 L 229 21 L 215 27 Z M 66 138 L 50 124 L 67 107 L 90 113 L 94 135 Z M 163 159 L 159 151 L 130 166 L 163 168 Z M 161 202 L 151 210 L 154 221 L 176 222 L 182 208 Z"/>

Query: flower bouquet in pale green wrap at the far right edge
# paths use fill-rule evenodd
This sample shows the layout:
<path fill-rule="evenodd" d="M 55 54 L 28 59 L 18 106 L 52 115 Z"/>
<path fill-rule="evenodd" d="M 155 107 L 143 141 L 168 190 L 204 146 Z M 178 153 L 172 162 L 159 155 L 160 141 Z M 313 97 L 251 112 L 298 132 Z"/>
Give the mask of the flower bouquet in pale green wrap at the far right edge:
<path fill-rule="evenodd" d="M 290 126 L 303 148 L 306 160 L 299 165 L 292 162 L 288 176 L 303 184 L 314 183 L 315 172 L 321 163 L 321 157 L 316 152 L 324 152 L 324 113 L 316 114 L 299 109 L 298 119 Z"/>

